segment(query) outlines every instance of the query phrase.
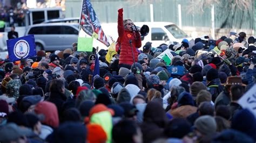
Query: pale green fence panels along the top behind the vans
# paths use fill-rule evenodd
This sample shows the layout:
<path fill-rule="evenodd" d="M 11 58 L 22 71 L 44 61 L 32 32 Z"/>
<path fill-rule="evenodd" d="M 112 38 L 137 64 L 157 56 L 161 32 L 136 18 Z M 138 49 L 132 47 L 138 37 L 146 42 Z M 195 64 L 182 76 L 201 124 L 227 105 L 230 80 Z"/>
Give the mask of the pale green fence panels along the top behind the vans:
<path fill-rule="evenodd" d="M 232 5 L 226 0 L 214 5 L 215 28 L 253 30 L 256 15 L 254 0 L 248 1 L 252 1 L 253 4 L 247 11 L 239 8 L 231 9 Z M 172 22 L 178 25 L 178 4 L 180 4 L 183 26 L 211 27 L 211 8 L 205 8 L 204 12 L 191 11 L 189 5 L 193 0 L 144 0 L 142 4 L 127 0 L 91 0 L 91 3 L 102 23 L 116 23 L 119 8 L 124 8 L 124 18 L 131 18 L 134 22 L 150 22 L 150 4 L 153 4 L 154 22 Z M 70 12 L 73 17 L 79 17 L 80 4 L 79 0 L 66 0 L 66 17 L 71 17 Z"/>

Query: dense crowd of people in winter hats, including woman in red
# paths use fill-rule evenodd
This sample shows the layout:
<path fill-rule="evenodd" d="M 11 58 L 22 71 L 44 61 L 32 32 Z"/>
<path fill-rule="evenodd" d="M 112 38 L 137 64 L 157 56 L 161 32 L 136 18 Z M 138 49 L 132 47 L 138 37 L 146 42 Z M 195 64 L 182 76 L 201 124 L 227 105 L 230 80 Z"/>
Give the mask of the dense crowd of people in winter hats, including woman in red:
<path fill-rule="evenodd" d="M 119 37 L 140 40 L 131 19 L 118 22 Z M 256 141 L 255 117 L 238 103 L 255 82 L 254 37 L 140 45 L 124 55 L 130 45 L 117 44 L 111 62 L 107 50 L 78 52 L 77 43 L 1 59 L 0 142 Z M 169 49 L 170 65 L 157 58 Z"/>

